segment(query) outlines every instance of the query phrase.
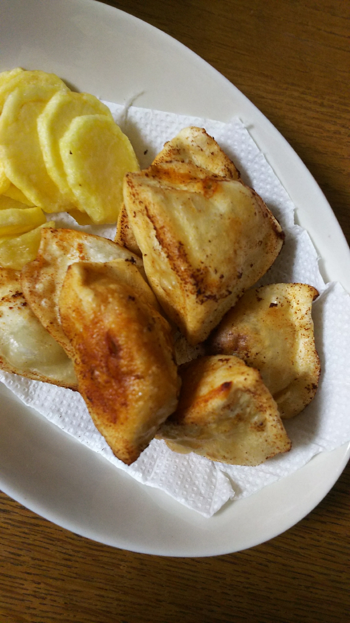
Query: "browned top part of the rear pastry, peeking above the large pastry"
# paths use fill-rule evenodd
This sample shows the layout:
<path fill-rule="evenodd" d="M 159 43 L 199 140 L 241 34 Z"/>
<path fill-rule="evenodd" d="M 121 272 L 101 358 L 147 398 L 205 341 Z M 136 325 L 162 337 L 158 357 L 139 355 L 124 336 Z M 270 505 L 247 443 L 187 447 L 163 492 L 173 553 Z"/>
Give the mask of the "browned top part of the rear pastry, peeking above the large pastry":
<path fill-rule="evenodd" d="M 196 164 L 201 169 L 226 179 L 240 179 L 240 173 L 217 142 L 204 128 L 184 128 L 159 151 L 152 164 L 179 161 Z"/>

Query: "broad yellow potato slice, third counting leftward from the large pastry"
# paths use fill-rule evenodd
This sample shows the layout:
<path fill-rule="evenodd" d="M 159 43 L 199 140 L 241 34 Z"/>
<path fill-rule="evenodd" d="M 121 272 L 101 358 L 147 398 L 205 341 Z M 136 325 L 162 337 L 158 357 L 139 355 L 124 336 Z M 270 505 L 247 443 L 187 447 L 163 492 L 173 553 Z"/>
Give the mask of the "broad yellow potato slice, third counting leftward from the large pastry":
<path fill-rule="evenodd" d="M 60 193 L 47 173 L 37 134 L 37 117 L 58 88 L 21 85 L 8 95 L 0 117 L 0 159 L 6 176 L 45 212 L 71 206 L 69 197 Z"/>

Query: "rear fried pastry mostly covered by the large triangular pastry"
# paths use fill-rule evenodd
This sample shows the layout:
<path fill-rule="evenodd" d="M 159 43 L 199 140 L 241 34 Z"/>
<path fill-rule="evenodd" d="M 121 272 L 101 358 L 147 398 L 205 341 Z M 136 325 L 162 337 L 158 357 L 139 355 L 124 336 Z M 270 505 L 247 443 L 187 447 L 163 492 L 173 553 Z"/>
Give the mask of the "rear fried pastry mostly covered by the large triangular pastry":
<path fill-rule="evenodd" d="M 152 164 L 169 161 L 195 164 L 224 178 L 240 179 L 240 173 L 234 163 L 204 128 L 190 126 L 181 130 L 175 138 L 165 143 L 163 150 L 154 158 Z M 118 217 L 115 242 L 141 256 L 124 205 Z"/>

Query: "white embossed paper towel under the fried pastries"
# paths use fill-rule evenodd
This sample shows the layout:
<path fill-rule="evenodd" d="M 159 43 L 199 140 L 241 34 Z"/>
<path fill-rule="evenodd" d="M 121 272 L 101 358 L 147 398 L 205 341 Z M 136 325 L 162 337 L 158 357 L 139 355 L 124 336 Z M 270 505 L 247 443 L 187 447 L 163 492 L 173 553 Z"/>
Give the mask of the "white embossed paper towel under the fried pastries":
<path fill-rule="evenodd" d="M 333 450 L 350 439 L 350 297 L 339 283 L 324 285 L 310 237 L 294 224 L 293 202 L 239 120 L 220 123 L 144 108 L 108 105 L 118 125 L 129 136 L 141 168 L 149 166 L 164 143 L 179 130 L 196 125 L 206 128 L 214 136 L 240 169 L 244 181 L 262 196 L 280 221 L 286 242 L 275 264 L 259 283 L 310 283 L 321 293 L 313 304 L 316 348 L 322 366 L 318 392 L 305 411 L 285 421 L 293 444 L 291 451 L 258 467 L 215 463 L 193 453 L 176 454 L 158 440 L 153 440 L 140 458 L 128 467 L 113 455 L 77 392 L 2 371 L 0 379 L 25 404 L 37 409 L 90 449 L 100 452 L 116 467 L 210 517 L 229 498 L 252 495 L 302 467 L 318 452 Z M 74 227 L 111 239 L 115 235 L 115 227 L 80 227 L 67 214 L 54 217 L 57 227 Z"/>

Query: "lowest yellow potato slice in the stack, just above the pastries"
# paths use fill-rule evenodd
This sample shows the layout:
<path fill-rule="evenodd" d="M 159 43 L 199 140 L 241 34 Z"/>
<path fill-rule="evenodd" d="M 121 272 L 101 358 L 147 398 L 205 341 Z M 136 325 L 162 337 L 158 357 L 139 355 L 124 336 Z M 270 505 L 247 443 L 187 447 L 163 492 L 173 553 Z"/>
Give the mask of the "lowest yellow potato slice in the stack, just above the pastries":
<path fill-rule="evenodd" d="M 54 227 L 55 222 L 45 222 L 26 234 L 0 238 L 0 266 L 21 270 L 28 262 L 35 260 L 39 250 L 42 227 Z"/>

